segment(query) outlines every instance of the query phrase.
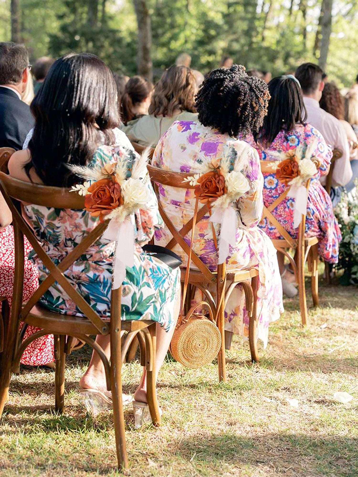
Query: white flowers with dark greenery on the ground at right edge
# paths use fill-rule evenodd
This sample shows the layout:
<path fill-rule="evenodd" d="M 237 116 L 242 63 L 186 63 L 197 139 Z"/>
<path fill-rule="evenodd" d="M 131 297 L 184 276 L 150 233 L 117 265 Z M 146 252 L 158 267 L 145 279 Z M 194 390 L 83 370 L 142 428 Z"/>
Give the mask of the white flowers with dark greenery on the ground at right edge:
<path fill-rule="evenodd" d="M 358 284 L 358 181 L 356 187 L 342 194 L 335 207 L 342 241 L 339 244 L 339 258 L 336 270 L 343 270 L 339 281 L 342 285 Z"/>

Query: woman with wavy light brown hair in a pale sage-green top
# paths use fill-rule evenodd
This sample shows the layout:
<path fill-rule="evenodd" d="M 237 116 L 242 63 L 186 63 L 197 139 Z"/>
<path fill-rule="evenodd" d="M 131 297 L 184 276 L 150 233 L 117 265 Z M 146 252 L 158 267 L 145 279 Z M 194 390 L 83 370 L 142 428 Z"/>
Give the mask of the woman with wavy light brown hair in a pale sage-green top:
<path fill-rule="evenodd" d="M 195 121 L 196 78 L 186 66 L 170 66 L 156 84 L 148 115 L 125 129 L 130 141 L 155 147 L 174 121 Z"/>

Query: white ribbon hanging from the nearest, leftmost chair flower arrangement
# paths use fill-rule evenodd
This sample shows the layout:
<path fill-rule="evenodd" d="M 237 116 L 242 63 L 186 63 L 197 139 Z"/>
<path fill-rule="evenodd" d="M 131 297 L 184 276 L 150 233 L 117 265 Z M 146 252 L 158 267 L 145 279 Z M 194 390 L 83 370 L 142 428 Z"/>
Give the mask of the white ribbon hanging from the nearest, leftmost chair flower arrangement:
<path fill-rule="evenodd" d="M 116 241 L 116 251 L 113 258 L 112 289 L 119 288 L 126 278 L 126 267 L 134 265 L 134 228 L 126 219 L 119 226 L 111 220 L 102 236 L 104 239 Z"/>

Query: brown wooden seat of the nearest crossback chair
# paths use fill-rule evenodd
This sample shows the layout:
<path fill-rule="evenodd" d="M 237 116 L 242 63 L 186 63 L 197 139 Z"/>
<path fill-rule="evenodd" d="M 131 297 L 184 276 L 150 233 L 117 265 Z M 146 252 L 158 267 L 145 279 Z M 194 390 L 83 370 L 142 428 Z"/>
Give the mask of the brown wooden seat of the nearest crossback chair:
<path fill-rule="evenodd" d="M 40 303 L 32 307 L 24 321 L 29 325 L 49 330 L 51 334 L 99 334 L 97 328 L 87 318 L 54 313 Z M 137 331 L 147 328 L 152 323 L 153 321 L 145 320 L 121 321 L 121 329 L 128 332 Z"/>

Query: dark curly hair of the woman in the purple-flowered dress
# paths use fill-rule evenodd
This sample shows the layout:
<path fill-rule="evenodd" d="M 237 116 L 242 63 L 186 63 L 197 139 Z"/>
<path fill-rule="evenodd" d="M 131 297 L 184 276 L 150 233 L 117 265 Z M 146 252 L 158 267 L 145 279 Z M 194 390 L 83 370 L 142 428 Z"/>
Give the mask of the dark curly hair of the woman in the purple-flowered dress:
<path fill-rule="evenodd" d="M 270 95 L 266 83 L 245 73 L 245 67 L 211 71 L 196 95 L 198 119 L 204 126 L 232 137 L 257 132 L 267 113 Z"/>

